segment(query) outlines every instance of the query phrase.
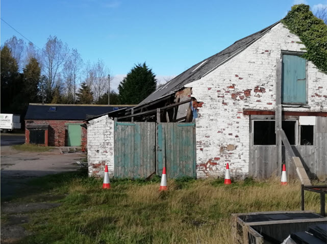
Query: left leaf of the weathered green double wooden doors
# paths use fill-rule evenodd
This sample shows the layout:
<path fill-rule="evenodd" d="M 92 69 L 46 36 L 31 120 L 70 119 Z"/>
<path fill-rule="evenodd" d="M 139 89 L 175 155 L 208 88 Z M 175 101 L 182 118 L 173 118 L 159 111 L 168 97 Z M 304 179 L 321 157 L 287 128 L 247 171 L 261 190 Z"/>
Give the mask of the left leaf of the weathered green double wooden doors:
<path fill-rule="evenodd" d="M 114 176 L 146 178 L 156 173 L 156 123 L 116 122 Z"/>

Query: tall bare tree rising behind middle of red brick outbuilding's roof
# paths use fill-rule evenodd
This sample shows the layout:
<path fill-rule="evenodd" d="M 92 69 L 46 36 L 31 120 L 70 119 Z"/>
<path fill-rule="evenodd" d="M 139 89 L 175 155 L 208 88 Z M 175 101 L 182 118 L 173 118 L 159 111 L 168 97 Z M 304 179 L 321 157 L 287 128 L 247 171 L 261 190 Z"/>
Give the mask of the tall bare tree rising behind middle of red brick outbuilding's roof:
<path fill-rule="evenodd" d="M 45 85 L 46 101 L 52 100 L 56 77 L 60 73 L 68 56 L 68 46 L 56 36 L 49 36 L 42 49 L 43 72 L 47 77 Z"/>

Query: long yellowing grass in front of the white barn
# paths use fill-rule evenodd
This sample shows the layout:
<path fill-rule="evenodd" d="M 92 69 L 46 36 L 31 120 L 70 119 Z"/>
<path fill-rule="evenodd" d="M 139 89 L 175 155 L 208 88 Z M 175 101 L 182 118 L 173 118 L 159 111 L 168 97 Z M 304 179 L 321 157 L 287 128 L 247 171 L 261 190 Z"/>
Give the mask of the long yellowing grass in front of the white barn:
<path fill-rule="evenodd" d="M 32 180 L 38 191 L 14 201 L 62 205 L 30 213 L 23 226 L 33 234 L 20 243 L 232 244 L 231 213 L 300 210 L 300 184 L 294 181 L 224 185 L 221 179 L 181 178 L 168 180 L 167 192 L 158 191 L 159 182 L 112 180 L 104 190 L 101 179 L 83 171 Z M 319 212 L 319 194 L 306 192 L 306 209 Z"/>

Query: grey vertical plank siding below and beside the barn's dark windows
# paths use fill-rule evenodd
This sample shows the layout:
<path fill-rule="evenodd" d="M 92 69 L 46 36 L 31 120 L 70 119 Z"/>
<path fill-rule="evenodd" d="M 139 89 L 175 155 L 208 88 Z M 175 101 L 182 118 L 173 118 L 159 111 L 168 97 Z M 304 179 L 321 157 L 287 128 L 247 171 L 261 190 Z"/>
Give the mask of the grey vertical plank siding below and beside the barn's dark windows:
<path fill-rule="evenodd" d="M 251 128 L 252 130 L 253 128 Z M 314 126 L 314 145 L 291 146 L 296 157 L 299 157 L 309 178 L 325 180 L 327 178 L 327 118 L 316 117 Z M 266 179 L 279 175 L 282 170 L 278 166 L 277 147 L 275 145 L 253 145 L 250 136 L 249 176 Z M 282 162 L 286 164 L 288 177 L 297 177 L 296 168 L 290 155 L 282 146 Z"/>

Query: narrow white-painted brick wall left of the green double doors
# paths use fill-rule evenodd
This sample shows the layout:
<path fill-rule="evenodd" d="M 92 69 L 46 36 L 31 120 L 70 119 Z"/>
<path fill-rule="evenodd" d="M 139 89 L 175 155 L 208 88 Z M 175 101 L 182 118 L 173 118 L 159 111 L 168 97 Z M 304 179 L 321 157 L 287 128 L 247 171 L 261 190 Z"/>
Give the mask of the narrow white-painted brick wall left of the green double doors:
<path fill-rule="evenodd" d="M 103 177 L 105 165 L 114 174 L 114 121 L 102 116 L 89 121 L 87 126 L 89 176 Z"/>

